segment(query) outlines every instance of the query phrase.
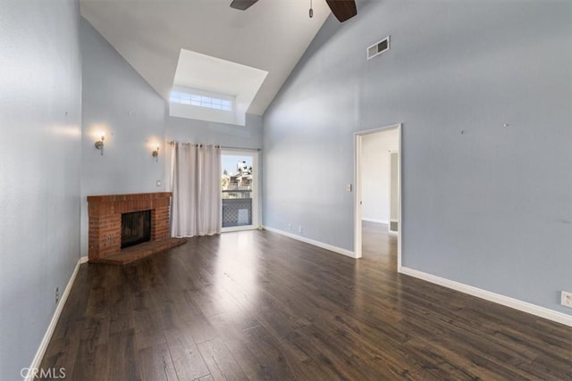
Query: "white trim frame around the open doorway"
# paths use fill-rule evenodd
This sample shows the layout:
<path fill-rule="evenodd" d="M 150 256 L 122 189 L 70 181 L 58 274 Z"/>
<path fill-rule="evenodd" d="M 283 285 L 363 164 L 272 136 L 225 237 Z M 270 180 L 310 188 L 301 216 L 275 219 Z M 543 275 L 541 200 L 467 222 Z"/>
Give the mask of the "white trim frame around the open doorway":
<path fill-rule="evenodd" d="M 375 134 L 378 132 L 388 131 L 391 129 L 397 129 L 398 131 L 398 140 L 399 140 L 399 156 L 398 156 L 398 197 L 399 197 L 399 206 L 398 206 L 398 239 L 397 239 L 397 271 L 401 272 L 401 236 L 403 235 L 403 229 L 401 228 L 402 225 L 402 215 L 401 215 L 401 204 L 403 203 L 403 189 L 401 187 L 401 157 L 403 156 L 403 150 L 401 145 L 401 123 L 392 124 L 390 126 L 385 126 L 382 128 L 373 128 L 373 129 L 366 129 L 363 131 L 357 131 L 354 133 L 354 183 L 355 186 L 355 193 L 354 193 L 354 255 L 356 258 L 362 257 L 362 228 L 361 228 L 361 199 L 362 199 L 362 186 L 361 186 L 361 153 L 362 153 L 362 138 L 366 135 Z"/>

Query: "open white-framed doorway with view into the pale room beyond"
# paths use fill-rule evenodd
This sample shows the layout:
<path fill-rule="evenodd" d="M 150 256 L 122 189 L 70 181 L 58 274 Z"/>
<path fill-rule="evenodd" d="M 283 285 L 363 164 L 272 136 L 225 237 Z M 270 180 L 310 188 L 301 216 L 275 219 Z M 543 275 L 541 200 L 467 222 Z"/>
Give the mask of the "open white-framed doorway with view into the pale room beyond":
<path fill-rule="evenodd" d="M 401 124 L 355 134 L 354 253 L 363 254 L 364 230 L 397 235 L 401 269 Z M 391 181 L 391 178 L 394 181 Z M 391 201 L 393 203 L 391 203 Z M 365 227 L 365 228 L 364 228 Z"/>

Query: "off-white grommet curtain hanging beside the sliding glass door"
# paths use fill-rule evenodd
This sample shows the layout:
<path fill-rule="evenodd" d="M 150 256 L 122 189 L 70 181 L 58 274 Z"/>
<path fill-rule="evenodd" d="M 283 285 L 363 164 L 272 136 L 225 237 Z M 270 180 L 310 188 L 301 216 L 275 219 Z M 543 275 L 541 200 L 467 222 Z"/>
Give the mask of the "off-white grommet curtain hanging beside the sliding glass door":
<path fill-rule="evenodd" d="M 221 148 L 172 145 L 171 235 L 211 236 L 221 232 Z"/>

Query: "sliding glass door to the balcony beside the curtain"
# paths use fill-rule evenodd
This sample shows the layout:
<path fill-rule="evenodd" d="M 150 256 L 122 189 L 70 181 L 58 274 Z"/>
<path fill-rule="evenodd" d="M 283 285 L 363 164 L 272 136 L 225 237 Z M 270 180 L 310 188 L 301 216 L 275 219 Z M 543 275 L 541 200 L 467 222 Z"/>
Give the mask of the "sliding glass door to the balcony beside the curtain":
<path fill-rule="evenodd" d="M 258 153 L 223 150 L 221 192 L 224 231 L 258 228 Z"/>

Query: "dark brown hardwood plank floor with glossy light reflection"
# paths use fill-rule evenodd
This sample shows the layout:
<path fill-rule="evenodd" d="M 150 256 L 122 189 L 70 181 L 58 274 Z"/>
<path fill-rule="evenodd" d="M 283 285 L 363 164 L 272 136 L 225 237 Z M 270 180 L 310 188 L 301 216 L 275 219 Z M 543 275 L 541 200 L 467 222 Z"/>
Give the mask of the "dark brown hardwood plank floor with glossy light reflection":
<path fill-rule="evenodd" d="M 265 231 L 81 265 L 42 362 L 71 380 L 572 379 L 572 329 Z"/>

